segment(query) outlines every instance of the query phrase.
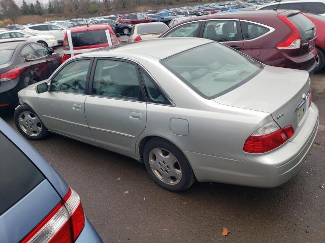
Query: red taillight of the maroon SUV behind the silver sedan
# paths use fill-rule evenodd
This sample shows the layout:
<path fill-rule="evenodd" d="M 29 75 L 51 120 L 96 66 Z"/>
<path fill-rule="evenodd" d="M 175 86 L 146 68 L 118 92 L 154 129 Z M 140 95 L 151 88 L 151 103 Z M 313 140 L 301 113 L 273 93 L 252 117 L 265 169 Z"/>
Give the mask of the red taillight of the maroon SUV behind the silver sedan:
<path fill-rule="evenodd" d="M 287 17 L 279 15 L 279 18 L 291 29 L 289 36 L 285 37 L 276 47 L 280 50 L 299 49 L 301 36 L 298 28 Z"/>

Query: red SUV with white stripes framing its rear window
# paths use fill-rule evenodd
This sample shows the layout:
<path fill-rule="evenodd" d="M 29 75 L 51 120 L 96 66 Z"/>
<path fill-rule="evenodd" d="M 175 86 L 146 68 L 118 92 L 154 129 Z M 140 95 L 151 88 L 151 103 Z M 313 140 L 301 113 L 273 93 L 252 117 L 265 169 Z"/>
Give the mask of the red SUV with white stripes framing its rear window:
<path fill-rule="evenodd" d="M 71 28 L 64 33 L 62 62 L 80 53 L 119 43 L 109 24 Z"/>

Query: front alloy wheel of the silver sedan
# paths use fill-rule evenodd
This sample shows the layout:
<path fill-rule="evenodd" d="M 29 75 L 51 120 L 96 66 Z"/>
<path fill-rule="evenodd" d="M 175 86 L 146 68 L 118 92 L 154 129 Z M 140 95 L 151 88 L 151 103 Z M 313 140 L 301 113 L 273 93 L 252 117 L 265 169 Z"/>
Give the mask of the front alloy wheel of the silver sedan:
<path fill-rule="evenodd" d="M 21 112 L 18 117 L 18 123 L 21 130 L 29 136 L 35 137 L 42 132 L 40 118 L 30 111 Z"/>

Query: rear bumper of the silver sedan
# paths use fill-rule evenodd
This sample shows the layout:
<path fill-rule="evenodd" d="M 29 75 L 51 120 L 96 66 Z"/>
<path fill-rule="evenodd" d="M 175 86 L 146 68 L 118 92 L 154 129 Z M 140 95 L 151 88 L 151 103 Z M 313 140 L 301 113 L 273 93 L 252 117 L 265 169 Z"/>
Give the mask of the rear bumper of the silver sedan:
<path fill-rule="evenodd" d="M 263 154 L 247 153 L 243 161 L 184 153 L 198 181 L 276 187 L 288 181 L 301 169 L 315 140 L 317 129 L 318 109 L 312 103 L 308 117 L 296 137 L 273 151 Z"/>

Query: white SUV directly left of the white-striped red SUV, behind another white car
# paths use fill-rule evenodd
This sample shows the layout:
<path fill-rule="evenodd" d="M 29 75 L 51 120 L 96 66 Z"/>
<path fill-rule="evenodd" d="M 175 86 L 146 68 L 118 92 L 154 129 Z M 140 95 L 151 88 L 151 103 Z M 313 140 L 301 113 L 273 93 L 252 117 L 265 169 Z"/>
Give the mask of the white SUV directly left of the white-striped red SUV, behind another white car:
<path fill-rule="evenodd" d="M 22 30 L 33 34 L 38 34 L 38 35 L 43 35 L 43 34 L 53 35 L 58 42 L 63 42 L 64 32 L 66 32 L 68 28 L 58 24 L 44 23 L 44 24 L 28 25 Z"/>

